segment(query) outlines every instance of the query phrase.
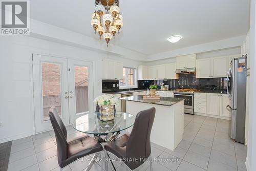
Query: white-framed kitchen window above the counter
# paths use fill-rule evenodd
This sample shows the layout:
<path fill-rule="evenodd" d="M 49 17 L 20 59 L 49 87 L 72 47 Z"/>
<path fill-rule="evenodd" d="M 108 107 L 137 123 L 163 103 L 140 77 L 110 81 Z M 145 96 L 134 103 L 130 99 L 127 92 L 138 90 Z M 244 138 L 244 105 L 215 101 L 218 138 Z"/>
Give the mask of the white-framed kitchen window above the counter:
<path fill-rule="evenodd" d="M 123 78 L 119 80 L 119 86 L 121 89 L 135 88 L 137 87 L 136 69 L 134 68 L 123 68 Z"/>

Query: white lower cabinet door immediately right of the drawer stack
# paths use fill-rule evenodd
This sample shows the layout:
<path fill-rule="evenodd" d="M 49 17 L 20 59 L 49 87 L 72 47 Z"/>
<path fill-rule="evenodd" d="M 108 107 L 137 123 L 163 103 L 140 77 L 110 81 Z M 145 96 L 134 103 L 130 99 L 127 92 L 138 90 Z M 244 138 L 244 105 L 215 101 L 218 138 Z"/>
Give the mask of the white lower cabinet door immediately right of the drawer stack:
<path fill-rule="evenodd" d="M 220 115 L 220 94 L 207 93 L 206 114 Z"/>

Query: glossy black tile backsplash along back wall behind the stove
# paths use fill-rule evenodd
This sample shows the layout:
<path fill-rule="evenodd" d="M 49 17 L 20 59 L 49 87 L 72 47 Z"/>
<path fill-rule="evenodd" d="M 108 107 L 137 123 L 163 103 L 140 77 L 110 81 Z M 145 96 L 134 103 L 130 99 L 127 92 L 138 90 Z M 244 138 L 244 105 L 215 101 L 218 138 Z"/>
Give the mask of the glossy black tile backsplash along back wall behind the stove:
<path fill-rule="evenodd" d="M 226 90 L 226 78 L 196 78 L 196 74 L 179 74 L 179 79 L 139 80 L 138 88 L 147 89 L 151 84 L 169 85 L 169 89 Z"/>

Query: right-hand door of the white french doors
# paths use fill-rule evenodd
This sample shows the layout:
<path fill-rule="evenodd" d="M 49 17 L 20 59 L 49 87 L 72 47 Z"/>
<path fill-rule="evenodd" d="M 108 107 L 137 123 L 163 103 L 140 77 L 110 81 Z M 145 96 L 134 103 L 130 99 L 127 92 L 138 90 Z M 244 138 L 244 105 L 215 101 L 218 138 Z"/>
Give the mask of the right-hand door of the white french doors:
<path fill-rule="evenodd" d="M 93 72 L 92 63 L 68 60 L 69 68 L 69 114 L 70 124 L 74 120 L 93 111 Z M 90 74 L 89 74 L 90 73 Z"/>

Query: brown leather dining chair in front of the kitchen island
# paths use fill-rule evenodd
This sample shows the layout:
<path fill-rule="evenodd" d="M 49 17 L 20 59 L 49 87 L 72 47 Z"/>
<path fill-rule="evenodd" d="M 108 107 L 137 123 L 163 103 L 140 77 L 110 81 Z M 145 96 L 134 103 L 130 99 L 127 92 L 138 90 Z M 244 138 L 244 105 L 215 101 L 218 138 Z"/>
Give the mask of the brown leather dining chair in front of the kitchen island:
<path fill-rule="evenodd" d="M 150 169 L 152 168 L 151 158 L 151 141 L 150 134 L 155 118 L 156 109 L 151 108 L 141 111 L 137 114 L 131 134 L 124 134 L 116 140 L 105 144 L 105 157 L 108 152 L 114 154 L 118 158 L 135 159 L 138 161 L 123 160 L 124 164 L 131 170 L 139 167 L 144 163 L 145 159 L 150 159 Z M 105 162 L 106 171 L 108 171 L 108 163 Z"/>

